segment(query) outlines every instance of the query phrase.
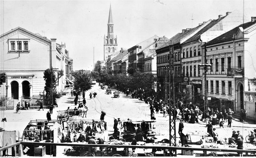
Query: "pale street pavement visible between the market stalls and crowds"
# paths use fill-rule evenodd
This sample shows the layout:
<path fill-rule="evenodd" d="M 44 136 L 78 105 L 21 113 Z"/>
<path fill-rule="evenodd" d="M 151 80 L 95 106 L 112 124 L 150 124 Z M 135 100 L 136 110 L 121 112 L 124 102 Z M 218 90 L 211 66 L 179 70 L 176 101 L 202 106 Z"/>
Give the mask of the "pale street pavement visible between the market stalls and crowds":
<path fill-rule="evenodd" d="M 108 124 L 108 131 L 113 131 L 114 118 L 120 118 L 120 120 L 127 120 L 128 118 L 132 121 L 150 121 L 150 109 L 149 105 L 145 104 L 144 101 L 139 99 L 132 99 L 131 95 L 126 97 L 124 93 L 120 93 L 120 98 L 114 98 L 112 94 L 106 94 L 106 90 L 100 89 L 98 84 L 93 85 L 89 91 L 85 92 L 86 106 L 88 107 L 87 118 L 88 120 L 99 120 L 101 111 L 106 113 L 105 121 Z M 90 92 L 97 92 L 96 98 L 89 99 Z M 57 119 L 58 110 L 66 110 L 68 107 L 75 108 L 74 98 L 71 94 L 62 96 L 58 99 L 58 107 L 53 109 L 52 120 Z M 82 102 L 82 96 L 79 97 Z M 77 105 L 78 106 L 78 105 Z M 6 116 L 8 122 L 20 122 L 20 121 L 30 121 L 35 119 L 46 119 L 46 113 L 49 109 L 44 109 L 44 111 L 37 111 L 36 109 L 22 110 L 20 114 L 15 113 L 15 110 L 5 110 L 1 111 L 1 117 Z M 160 111 L 159 111 L 160 112 Z M 156 114 L 156 122 L 154 123 L 154 131 L 159 136 L 159 140 L 163 138 L 169 139 L 169 116 L 163 117 L 163 114 Z M 178 128 L 179 122 L 176 121 L 176 131 L 177 131 L 177 143 L 179 142 Z M 229 138 L 232 135 L 232 131 L 239 130 L 240 133 L 245 137 L 249 134 L 250 130 L 256 128 L 255 124 L 252 122 L 239 122 L 237 119 L 233 119 L 231 128 L 227 127 L 227 122 L 224 123 L 224 128 L 220 128 L 219 125 L 213 125 L 216 128 L 216 132 L 219 134 L 219 138 Z M 204 122 L 199 123 L 184 123 L 184 130 L 189 132 L 207 132 L 206 124 Z M 110 132 L 111 133 L 111 132 Z M 192 142 L 200 140 L 200 136 L 191 135 Z M 193 145 L 191 145 L 193 146 Z"/>

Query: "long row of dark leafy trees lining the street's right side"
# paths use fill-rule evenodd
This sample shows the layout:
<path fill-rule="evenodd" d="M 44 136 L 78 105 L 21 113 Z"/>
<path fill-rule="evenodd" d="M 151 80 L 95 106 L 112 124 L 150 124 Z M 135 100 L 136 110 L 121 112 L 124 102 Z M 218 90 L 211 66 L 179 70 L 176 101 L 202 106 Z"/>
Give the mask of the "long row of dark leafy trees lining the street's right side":
<path fill-rule="evenodd" d="M 126 75 L 124 73 L 110 75 L 110 74 L 100 74 L 98 82 L 105 83 L 109 86 L 114 86 L 119 90 L 123 89 L 143 89 L 145 93 L 149 93 L 152 88 L 156 85 L 156 76 L 153 74 L 144 74 L 142 72 L 136 71 L 132 75 Z"/>

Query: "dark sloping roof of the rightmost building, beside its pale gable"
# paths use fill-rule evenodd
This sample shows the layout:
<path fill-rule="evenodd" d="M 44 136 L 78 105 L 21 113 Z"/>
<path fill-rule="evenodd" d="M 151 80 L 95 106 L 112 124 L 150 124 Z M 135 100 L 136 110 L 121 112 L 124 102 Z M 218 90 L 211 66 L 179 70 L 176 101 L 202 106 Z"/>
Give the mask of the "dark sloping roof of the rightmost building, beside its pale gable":
<path fill-rule="evenodd" d="M 213 40 L 209 41 L 207 44 L 219 43 L 219 42 L 223 42 L 223 41 L 233 40 L 233 38 L 234 38 L 233 35 L 237 33 L 237 30 L 240 27 L 245 29 L 245 28 L 248 28 L 248 27 L 252 26 L 255 23 L 256 23 L 256 21 L 250 21 L 250 22 L 241 24 L 241 25 L 237 26 L 236 28 L 233 28 L 232 30 L 214 38 Z"/>

